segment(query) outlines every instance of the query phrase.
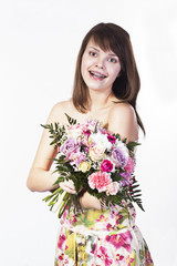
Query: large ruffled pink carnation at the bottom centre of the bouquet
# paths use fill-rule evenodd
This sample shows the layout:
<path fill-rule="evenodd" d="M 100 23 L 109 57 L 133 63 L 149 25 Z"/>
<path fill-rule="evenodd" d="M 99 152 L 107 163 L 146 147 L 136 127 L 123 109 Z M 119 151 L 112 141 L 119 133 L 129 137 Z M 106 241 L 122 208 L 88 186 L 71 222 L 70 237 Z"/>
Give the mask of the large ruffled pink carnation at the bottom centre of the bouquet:
<path fill-rule="evenodd" d="M 112 182 L 112 178 L 108 173 L 96 172 L 88 176 L 88 185 L 92 190 L 97 188 L 98 193 L 107 190 L 108 184 Z"/>

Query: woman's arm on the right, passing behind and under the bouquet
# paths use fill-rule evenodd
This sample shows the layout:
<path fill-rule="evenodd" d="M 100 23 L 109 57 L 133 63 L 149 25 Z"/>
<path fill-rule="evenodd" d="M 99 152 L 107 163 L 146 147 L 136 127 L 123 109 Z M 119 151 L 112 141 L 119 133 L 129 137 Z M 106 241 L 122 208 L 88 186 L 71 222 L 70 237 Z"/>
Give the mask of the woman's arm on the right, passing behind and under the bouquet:
<path fill-rule="evenodd" d="M 121 137 L 127 137 L 127 141 L 138 139 L 138 126 L 134 109 L 128 104 L 118 104 L 114 106 L 108 114 L 108 131 L 119 133 Z M 87 192 L 80 198 L 83 208 L 101 209 L 100 201 Z"/>

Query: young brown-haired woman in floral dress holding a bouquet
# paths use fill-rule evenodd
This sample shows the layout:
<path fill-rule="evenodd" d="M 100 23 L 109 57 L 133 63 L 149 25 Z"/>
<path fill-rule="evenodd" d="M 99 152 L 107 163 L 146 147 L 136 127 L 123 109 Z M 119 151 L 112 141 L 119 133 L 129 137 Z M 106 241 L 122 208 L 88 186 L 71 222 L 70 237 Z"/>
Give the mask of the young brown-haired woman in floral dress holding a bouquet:
<path fill-rule="evenodd" d="M 128 33 L 113 23 L 100 23 L 85 35 L 76 62 L 72 99 L 52 109 L 46 123 L 66 124 L 67 113 L 83 123 L 86 117 L 103 122 L 106 130 L 128 141 L 138 140 L 144 126 L 136 111 L 139 76 Z M 58 174 L 50 171 L 56 152 L 44 130 L 28 177 L 31 191 L 53 190 Z M 61 188 L 75 194 L 72 181 Z M 153 266 L 146 242 L 135 225 L 135 208 L 124 203 L 101 211 L 100 201 L 81 192 L 82 212 L 64 212 L 55 254 L 56 265 Z"/>

